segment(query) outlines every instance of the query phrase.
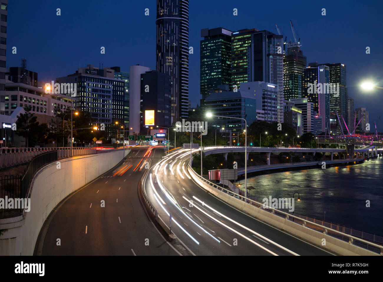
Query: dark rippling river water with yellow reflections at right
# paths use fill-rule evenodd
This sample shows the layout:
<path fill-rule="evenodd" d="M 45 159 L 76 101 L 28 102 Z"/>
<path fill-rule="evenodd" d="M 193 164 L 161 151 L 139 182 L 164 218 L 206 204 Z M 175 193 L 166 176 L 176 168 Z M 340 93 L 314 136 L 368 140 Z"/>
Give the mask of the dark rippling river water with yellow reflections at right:
<path fill-rule="evenodd" d="M 241 181 L 241 183 L 243 180 Z M 257 200 L 292 198 L 295 213 L 383 236 L 383 157 L 362 164 L 259 175 L 247 180 Z M 295 194 L 295 199 L 298 195 Z M 370 207 L 366 207 L 366 201 Z"/>

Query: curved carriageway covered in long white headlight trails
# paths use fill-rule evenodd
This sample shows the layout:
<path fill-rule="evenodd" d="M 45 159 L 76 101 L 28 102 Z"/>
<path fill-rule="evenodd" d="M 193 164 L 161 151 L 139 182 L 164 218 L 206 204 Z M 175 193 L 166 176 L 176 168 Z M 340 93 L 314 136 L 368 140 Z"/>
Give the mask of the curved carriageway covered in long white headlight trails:
<path fill-rule="evenodd" d="M 169 154 L 152 166 L 144 187 L 168 226 L 172 214 L 172 231 L 191 254 L 331 255 L 242 213 L 200 188 L 187 172 L 189 160 L 190 150 Z"/>

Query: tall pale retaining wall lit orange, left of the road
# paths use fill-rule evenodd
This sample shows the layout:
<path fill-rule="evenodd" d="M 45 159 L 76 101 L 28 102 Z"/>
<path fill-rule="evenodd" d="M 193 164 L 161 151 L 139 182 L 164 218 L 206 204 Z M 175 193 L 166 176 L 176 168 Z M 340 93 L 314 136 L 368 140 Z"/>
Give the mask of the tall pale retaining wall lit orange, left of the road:
<path fill-rule="evenodd" d="M 31 209 L 24 217 L 0 219 L 0 256 L 31 256 L 40 229 L 66 196 L 118 164 L 131 150 L 118 150 L 60 160 L 36 172 L 29 190 Z M 60 166 L 60 168 L 59 168 Z"/>

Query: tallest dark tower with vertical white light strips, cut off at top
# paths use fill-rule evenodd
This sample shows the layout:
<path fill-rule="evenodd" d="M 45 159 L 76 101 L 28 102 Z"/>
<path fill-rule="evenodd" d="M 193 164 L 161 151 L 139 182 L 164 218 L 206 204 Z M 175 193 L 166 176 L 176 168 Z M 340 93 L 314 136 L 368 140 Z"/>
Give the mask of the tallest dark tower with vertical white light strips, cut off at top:
<path fill-rule="evenodd" d="M 156 68 L 172 80 L 172 122 L 188 117 L 189 1 L 157 0 Z"/>

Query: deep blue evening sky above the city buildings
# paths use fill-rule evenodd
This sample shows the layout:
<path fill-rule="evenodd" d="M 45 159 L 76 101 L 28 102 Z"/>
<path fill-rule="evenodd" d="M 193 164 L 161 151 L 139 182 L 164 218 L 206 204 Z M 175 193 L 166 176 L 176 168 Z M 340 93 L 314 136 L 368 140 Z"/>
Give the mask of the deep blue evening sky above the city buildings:
<path fill-rule="evenodd" d="M 311 63 L 344 63 L 347 88 L 355 108 L 367 107 L 370 124 L 382 114 L 383 90 L 360 92 L 363 79 L 383 86 L 383 2 L 377 1 L 249 1 L 191 0 L 189 45 L 189 97 L 200 101 L 200 30 L 222 26 L 232 31 L 257 28 L 277 33 L 275 23 L 288 40 L 290 20 L 301 38 L 303 54 Z M 61 8 L 61 16 L 56 15 Z M 149 8 L 149 16 L 144 15 Z M 17 1 L 8 3 L 7 67 L 20 66 L 38 72 L 39 80 L 51 81 L 74 73 L 79 66 L 129 66 L 155 69 L 156 1 Z M 238 9 L 238 16 L 233 15 Z M 326 8 L 326 16 L 321 9 Z M 17 54 L 12 54 L 12 46 Z M 105 54 L 100 47 L 105 46 Z M 365 53 L 366 46 L 371 54 Z M 383 117 L 382 117 L 383 118 Z M 383 131 L 383 120 L 379 130 Z M 373 130 L 375 131 L 375 130 Z"/>

